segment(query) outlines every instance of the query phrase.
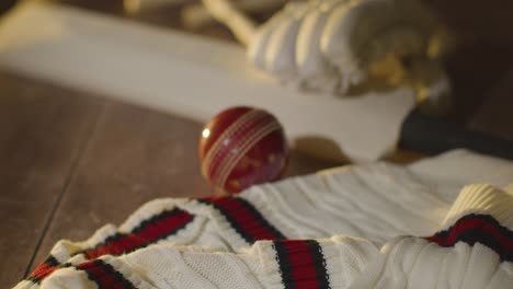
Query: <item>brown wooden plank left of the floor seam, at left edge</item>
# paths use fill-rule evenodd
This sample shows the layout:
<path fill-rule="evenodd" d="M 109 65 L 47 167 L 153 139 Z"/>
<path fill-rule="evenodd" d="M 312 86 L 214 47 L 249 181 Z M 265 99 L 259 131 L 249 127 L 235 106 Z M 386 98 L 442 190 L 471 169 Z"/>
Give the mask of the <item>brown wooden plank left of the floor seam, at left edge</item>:
<path fill-rule="evenodd" d="M 0 73 L 0 287 L 23 278 L 102 102 Z"/>

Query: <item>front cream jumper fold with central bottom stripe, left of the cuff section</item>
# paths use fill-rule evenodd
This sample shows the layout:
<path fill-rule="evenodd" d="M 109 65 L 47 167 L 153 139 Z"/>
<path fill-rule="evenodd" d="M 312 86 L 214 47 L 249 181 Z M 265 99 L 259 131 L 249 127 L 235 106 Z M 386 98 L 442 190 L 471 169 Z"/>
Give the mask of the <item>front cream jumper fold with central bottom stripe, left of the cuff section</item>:
<path fill-rule="evenodd" d="M 119 273 L 125 279 L 125 287 L 284 288 L 281 271 L 283 264 L 276 256 L 276 246 L 277 243 L 294 245 L 294 242 L 300 241 L 259 241 L 237 254 L 153 245 L 121 257 L 103 256 L 98 264 L 89 267 L 82 264 L 60 269 L 45 279 L 42 288 L 94 288 L 95 281 L 92 279 L 102 276 L 88 269 L 102 266 Z M 346 288 L 368 262 L 379 254 L 369 242 L 344 236 L 318 240 L 316 244 L 322 251 L 326 276 L 329 276 L 326 280 L 331 288 Z M 301 255 L 304 252 L 298 246 L 294 254 Z M 293 265 L 292 269 L 308 275 L 308 270 L 301 271 L 301 266 Z M 306 281 L 310 281 L 307 277 Z"/>

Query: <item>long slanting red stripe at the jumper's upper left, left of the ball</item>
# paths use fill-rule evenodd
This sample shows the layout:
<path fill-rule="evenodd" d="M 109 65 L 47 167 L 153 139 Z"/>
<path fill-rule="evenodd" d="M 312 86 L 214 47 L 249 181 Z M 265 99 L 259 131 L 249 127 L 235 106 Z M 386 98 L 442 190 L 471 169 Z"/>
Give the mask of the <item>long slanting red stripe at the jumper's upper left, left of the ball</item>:
<path fill-rule="evenodd" d="M 171 233 L 174 233 L 193 218 L 194 217 L 186 211 L 179 211 L 178 213 L 170 215 L 153 223 L 149 223 L 133 234 L 122 235 L 106 244 L 101 244 L 91 248 L 84 254 L 89 259 L 98 258 L 106 254 L 121 255 L 125 252 L 130 252 L 146 246 Z"/>

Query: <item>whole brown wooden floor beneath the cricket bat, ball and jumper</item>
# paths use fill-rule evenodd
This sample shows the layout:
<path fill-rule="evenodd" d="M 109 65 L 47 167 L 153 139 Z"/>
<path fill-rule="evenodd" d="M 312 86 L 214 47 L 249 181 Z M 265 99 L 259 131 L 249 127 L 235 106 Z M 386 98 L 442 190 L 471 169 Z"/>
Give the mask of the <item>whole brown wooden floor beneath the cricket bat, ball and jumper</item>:
<path fill-rule="evenodd" d="M 459 112 L 471 128 L 513 139 L 513 73 L 491 65 L 505 63 L 499 56 L 469 63 L 476 54 L 490 55 L 470 48 L 449 62 L 461 88 Z M 486 94 L 483 104 L 465 101 L 472 94 Z M 196 157 L 200 129 L 172 115 L 0 72 L 0 288 L 23 278 L 57 240 L 118 224 L 152 198 L 209 194 Z M 293 153 L 287 175 L 334 165 Z"/>

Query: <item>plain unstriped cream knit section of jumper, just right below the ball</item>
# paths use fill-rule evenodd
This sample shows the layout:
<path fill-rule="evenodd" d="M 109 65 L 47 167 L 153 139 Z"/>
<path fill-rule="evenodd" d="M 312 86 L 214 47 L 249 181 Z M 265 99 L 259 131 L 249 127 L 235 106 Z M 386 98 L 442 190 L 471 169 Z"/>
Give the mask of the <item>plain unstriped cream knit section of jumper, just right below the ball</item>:
<path fill-rule="evenodd" d="M 378 163 L 255 186 L 241 198 L 287 236 L 347 234 L 383 243 L 435 231 L 458 190 L 452 185 L 435 188 L 403 167 Z M 438 194 L 451 196 L 444 200 Z"/>

